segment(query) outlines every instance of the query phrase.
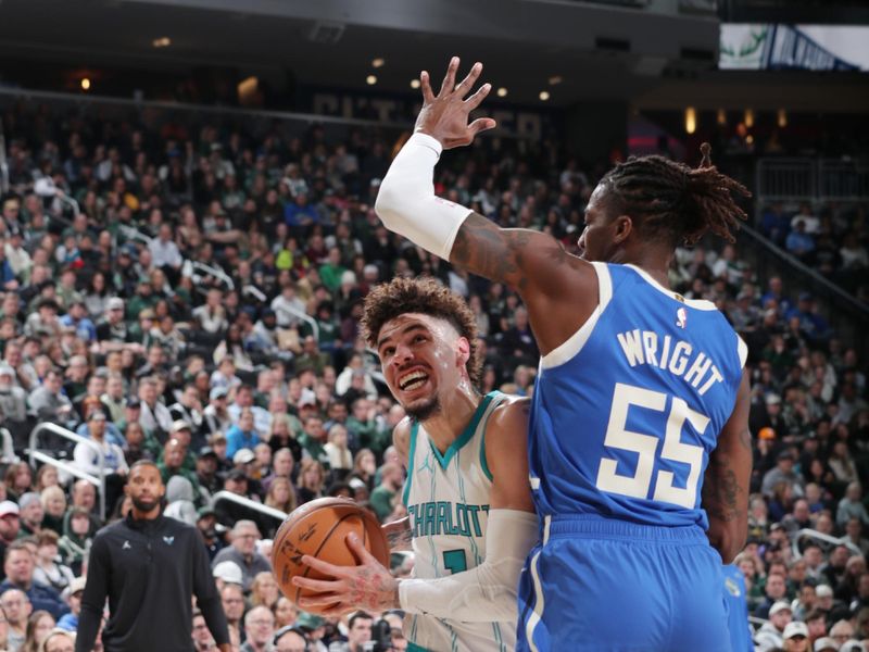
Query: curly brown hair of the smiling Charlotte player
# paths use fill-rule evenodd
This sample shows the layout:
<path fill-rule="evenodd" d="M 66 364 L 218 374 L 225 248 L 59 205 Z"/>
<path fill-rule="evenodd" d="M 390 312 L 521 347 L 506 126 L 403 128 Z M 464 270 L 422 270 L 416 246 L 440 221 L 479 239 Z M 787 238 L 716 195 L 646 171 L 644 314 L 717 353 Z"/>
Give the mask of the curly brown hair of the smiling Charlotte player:
<path fill-rule="evenodd" d="M 421 313 L 446 319 L 470 344 L 468 377 L 475 387 L 482 379 L 482 360 L 477 343 L 477 321 L 458 294 L 451 292 L 432 278 L 393 278 L 375 287 L 365 298 L 362 330 L 365 341 L 377 347 L 377 336 L 383 324 L 406 313 Z"/>

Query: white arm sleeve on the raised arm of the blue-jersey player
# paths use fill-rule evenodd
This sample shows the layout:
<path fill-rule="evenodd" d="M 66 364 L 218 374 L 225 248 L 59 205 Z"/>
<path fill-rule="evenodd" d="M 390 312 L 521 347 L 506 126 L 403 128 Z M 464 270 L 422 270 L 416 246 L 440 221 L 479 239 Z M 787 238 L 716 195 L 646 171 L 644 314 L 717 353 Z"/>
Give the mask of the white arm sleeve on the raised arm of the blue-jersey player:
<path fill-rule="evenodd" d="M 383 177 L 374 208 L 389 230 L 449 261 L 471 211 L 434 195 L 434 164 L 442 149 L 427 134 L 411 136 Z"/>

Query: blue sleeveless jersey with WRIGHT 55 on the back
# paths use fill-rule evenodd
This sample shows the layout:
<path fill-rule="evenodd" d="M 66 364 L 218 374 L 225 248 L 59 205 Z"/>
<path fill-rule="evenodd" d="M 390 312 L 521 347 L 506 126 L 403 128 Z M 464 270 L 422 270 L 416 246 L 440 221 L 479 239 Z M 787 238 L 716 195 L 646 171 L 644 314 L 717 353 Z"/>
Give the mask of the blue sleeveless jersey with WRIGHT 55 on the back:
<path fill-rule="evenodd" d="M 597 309 L 545 355 L 529 438 L 538 513 L 700 525 L 701 486 L 746 348 L 708 301 L 593 263 Z"/>

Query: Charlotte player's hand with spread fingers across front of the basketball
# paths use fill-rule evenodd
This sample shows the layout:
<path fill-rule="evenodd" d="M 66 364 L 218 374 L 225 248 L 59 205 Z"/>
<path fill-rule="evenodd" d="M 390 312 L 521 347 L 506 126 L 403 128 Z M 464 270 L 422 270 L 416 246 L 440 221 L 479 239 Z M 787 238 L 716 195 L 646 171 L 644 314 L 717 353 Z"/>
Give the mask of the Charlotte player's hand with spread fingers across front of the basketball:
<path fill-rule="evenodd" d="M 316 595 L 300 598 L 299 606 L 315 607 L 325 617 L 341 616 L 356 609 L 371 612 L 398 609 L 399 580 L 365 549 L 355 534 L 348 535 L 347 544 L 361 565 L 336 566 L 307 554 L 302 557 L 303 564 L 331 579 L 293 577 L 294 586 L 317 591 Z"/>

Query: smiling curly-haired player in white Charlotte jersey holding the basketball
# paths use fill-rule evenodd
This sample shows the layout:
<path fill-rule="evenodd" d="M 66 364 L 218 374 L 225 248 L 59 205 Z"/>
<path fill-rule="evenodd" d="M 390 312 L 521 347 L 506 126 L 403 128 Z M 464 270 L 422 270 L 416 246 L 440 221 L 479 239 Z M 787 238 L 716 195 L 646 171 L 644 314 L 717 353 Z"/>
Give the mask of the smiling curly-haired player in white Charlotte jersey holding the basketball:
<path fill-rule="evenodd" d="M 392 543 L 411 541 L 414 577 L 394 579 L 351 536 L 362 565 L 304 557 L 333 579 L 297 577 L 297 586 L 320 592 L 299 604 L 332 605 L 327 615 L 402 609 L 410 651 L 513 650 L 519 572 L 538 539 L 525 452 L 528 402 L 475 389 L 474 315 L 433 279 L 375 288 L 363 326 L 407 412 L 393 440 L 407 468 L 408 517 L 387 530 Z"/>

